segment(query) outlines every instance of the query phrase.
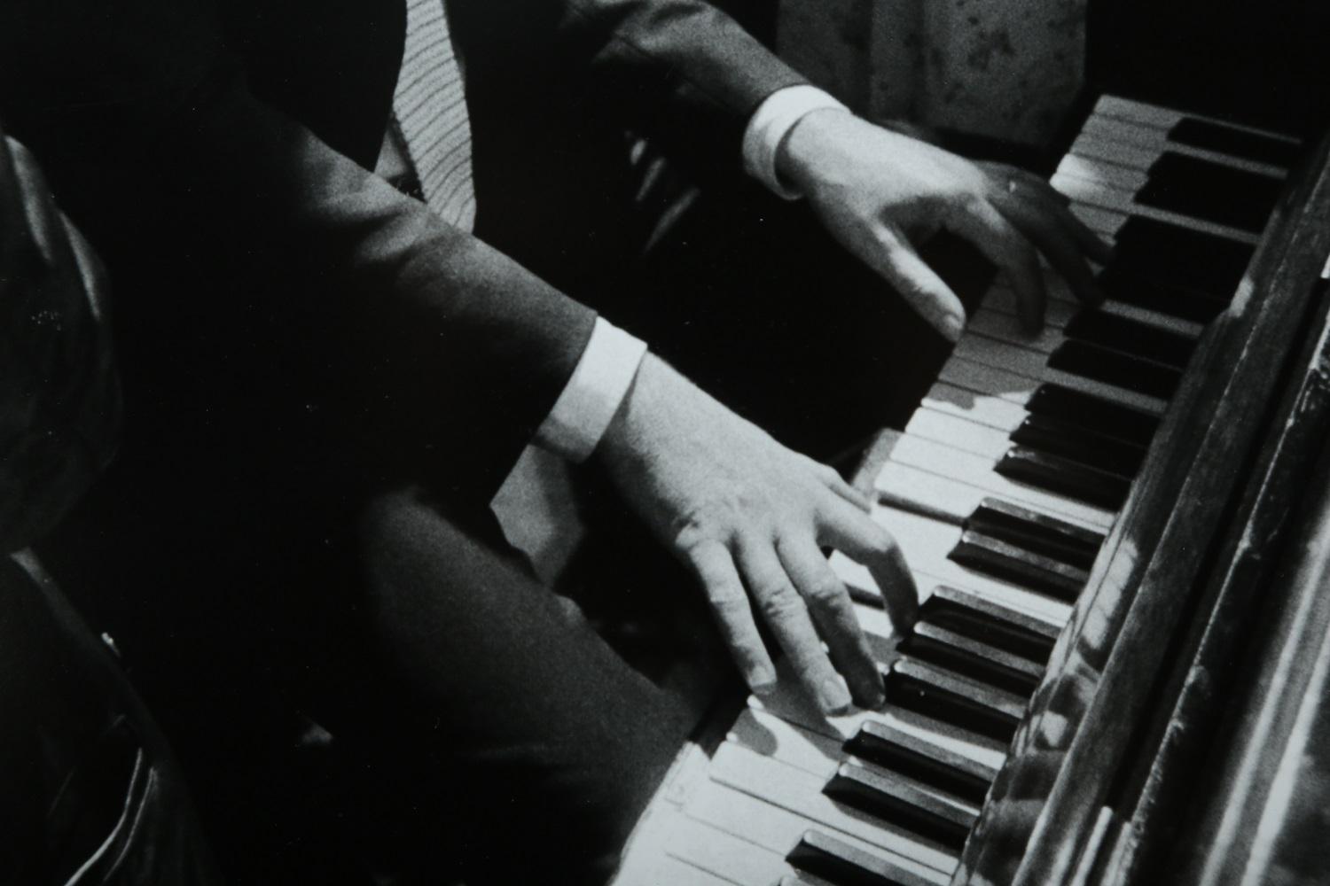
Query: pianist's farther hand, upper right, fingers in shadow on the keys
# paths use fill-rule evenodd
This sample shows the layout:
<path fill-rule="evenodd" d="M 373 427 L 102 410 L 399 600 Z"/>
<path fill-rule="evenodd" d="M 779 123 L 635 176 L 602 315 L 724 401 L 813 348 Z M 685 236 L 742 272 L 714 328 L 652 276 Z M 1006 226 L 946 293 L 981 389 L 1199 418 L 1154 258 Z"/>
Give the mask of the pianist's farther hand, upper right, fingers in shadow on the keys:
<path fill-rule="evenodd" d="M 1039 254 L 1081 300 L 1101 298 L 1085 259 L 1104 262 L 1109 247 L 1048 182 L 1024 170 L 975 163 L 841 109 L 815 110 L 795 124 L 777 170 L 842 246 L 952 341 L 964 308 L 916 251 L 940 228 L 974 243 L 1005 274 L 1031 331 L 1044 317 Z"/>

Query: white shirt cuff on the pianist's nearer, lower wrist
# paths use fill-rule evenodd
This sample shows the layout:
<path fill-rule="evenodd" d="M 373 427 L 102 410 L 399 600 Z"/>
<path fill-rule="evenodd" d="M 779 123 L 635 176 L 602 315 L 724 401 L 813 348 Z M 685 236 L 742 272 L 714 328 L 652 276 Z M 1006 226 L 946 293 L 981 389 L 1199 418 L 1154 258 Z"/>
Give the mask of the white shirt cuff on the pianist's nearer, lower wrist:
<path fill-rule="evenodd" d="M 637 376 L 646 344 L 596 317 L 587 349 L 536 430 L 536 445 L 581 462 L 600 442 Z"/>

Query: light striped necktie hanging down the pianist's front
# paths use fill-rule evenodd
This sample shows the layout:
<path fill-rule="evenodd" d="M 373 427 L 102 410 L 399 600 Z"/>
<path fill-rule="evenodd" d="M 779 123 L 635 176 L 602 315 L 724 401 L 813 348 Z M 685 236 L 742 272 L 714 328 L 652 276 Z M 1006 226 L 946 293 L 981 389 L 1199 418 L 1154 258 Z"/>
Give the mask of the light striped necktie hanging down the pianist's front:
<path fill-rule="evenodd" d="M 407 0 L 407 39 L 392 116 L 426 203 L 469 230 L 476 219 L 471 124 L 443 0 Z"/>

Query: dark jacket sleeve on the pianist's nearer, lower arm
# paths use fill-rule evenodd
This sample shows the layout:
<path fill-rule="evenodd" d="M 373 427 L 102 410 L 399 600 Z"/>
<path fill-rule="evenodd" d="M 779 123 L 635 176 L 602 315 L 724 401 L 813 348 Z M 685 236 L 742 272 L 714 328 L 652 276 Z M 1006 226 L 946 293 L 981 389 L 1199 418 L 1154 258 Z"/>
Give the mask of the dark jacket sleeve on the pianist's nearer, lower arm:
<path fill-rule="evenodd" d="M 501 478 L 591 335 L 589 310 L 257 100 L 203 4 L 7 0 L 0 114 L 113 282 L 116 254 L 154 252 L 262 279 L 194 321 L 285 340 L 446 482 Z"/>

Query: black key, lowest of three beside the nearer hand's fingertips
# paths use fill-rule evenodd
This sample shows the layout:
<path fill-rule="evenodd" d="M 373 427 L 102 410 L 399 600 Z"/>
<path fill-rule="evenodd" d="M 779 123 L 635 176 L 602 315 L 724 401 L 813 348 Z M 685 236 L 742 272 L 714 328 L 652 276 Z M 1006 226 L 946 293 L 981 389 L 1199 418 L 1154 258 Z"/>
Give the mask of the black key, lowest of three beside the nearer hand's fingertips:
<path fill-rule="evenodd" d="M 979 735 L 1011 741 L 1025 699 L 908 656 L 887 675 L 887 701 Z"/>

